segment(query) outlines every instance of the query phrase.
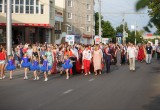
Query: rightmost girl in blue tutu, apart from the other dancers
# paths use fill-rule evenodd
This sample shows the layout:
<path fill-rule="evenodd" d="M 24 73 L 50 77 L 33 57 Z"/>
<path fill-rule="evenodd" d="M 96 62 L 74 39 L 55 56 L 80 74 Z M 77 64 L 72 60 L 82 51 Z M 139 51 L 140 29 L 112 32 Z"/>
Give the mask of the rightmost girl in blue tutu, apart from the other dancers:
<path fill-rule="evenodd" d="M 62 64 L 62 67 L 66 71 L 66 76 L 67 76 L 66 79 L 69 79 L 69 69 L 71 69 L 73 67 L 73 64 L 71 63 L 68 56 L 64 56 L 64 64 Z"/>

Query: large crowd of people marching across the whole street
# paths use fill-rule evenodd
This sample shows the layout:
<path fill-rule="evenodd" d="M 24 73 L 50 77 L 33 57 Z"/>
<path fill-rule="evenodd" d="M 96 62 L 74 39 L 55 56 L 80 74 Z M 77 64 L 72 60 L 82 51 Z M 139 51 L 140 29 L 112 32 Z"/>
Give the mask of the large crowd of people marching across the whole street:
<path fill-rule="evenodd" d="M 65 44 L 25 44 L 15 46 L 12 54 L 7 56 L 5 47 L 0 47 L 0 79 L 5 79 L 5 70 L 10 72 L 10 80 L 16 68 L 24 68 L 24 80 L 28 79 L 28 71 L 33 71 L 33 80 L 39 80 L 44 74 L 44 81 L 48 81 L 49 74 L 71 75 L 84 73 L 100 75 L 102 70 L 110 73 L 110 65 L 121 66 L 129 64 L 130 71 L 135 71 L 135 61 L 151 63 L 152 57 L 160 58 L 160 44 L 150 43 L 134 45 L 128 44 L 95 44 L 72 46 Z"/>

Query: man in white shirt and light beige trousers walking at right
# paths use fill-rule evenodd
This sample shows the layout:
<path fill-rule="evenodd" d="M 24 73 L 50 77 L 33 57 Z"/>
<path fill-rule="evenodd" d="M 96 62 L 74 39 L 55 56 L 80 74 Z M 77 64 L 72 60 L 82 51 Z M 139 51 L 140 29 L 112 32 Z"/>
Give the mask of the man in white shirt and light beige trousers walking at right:
<path fill-rule="evenodd" d="M 129 59 L 130 71 L 135 71 L 136 48 L 131 43 L 127 48 L 127 59 Z"/>

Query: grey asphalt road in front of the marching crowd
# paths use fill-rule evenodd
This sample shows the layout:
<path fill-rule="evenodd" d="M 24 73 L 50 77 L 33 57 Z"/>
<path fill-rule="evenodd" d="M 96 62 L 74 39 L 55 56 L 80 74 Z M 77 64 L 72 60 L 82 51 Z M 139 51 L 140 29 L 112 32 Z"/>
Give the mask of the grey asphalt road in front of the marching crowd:
<path fill-rule="evenodd" d="M 99 76 L 50 76 L 48 82 L 0 81 L 0 110 L 160 110 L 160 64 L 137 63 L 112 67 L 111 74 Z M 30 73 L 30 77 L 32 74 Z"/>

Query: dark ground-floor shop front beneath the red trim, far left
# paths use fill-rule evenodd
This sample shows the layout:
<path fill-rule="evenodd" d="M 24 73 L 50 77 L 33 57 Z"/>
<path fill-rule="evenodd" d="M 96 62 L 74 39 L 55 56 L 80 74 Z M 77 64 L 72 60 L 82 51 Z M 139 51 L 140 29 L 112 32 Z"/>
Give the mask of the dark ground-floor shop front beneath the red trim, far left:
<path fill-rule="evenodd" d="M 52 29 L 48 26 L 26 26 L 26 25 L 13 25 L 12 26 L 12 44 L 35 44 L 35 43 L 50 43 Z M 6 26 L 0 24 L 0 43 L 6 43 Z"/>

